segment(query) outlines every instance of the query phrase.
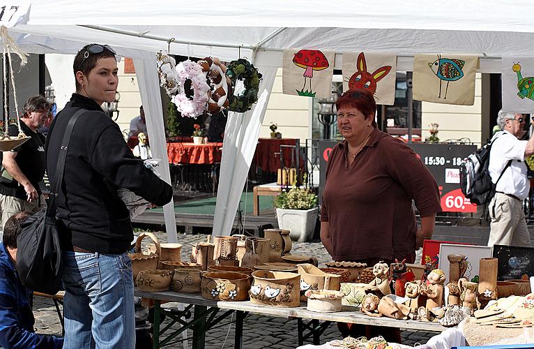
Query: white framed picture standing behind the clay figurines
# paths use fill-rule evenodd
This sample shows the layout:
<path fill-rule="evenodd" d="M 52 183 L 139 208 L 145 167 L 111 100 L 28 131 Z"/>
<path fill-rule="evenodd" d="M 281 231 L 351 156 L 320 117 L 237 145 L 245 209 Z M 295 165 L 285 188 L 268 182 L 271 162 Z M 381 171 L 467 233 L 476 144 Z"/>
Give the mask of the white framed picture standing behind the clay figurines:
<path fill-rule="evenodd" d="M 439 269 L 445 273 L 445 284 L 449 282 L 449 261 L 447 255 L 465 255 L 467 270 L 464 277 L 478 282 L 480 258 L 491 257 L 491 247 L 478 245 L 441 244 L 439 246 Z"/>

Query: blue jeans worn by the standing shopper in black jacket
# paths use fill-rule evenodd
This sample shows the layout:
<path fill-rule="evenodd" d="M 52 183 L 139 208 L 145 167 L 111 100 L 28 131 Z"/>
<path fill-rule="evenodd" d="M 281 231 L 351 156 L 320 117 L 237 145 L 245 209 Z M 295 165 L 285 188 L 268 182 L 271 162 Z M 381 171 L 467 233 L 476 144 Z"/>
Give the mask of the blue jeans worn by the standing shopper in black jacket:
<path fill-rule="evenodd" d="M 132 261 L 63 252 L 66 349 L 135 348 Z"/>

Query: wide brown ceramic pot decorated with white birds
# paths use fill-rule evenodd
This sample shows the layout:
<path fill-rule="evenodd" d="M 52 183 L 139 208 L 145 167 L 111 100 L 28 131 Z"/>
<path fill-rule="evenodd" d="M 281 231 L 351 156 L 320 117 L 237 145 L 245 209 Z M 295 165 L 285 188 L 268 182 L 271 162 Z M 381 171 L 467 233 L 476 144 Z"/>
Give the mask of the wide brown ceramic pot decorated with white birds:
<path fill-rule="evenodd" d="M 250 302 L 279 308 L 300 306 L 300 275 L 257 270 L 252 273 Z"/>

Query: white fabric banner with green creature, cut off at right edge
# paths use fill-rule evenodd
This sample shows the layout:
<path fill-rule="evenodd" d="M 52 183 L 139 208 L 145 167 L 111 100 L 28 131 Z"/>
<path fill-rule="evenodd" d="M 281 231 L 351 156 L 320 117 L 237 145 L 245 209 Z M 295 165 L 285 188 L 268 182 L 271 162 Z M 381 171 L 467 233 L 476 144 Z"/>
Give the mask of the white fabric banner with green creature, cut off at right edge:
<path fill-rule="evenodd" d="M 503 110 L 534 113 L 534 58 L 503 57 Z"/>

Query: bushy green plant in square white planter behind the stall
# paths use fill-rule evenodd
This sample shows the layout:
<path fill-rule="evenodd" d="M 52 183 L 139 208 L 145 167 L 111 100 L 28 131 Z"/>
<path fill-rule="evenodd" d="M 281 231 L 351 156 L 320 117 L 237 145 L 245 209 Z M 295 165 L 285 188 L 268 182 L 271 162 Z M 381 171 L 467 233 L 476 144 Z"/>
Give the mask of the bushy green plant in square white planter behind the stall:
<path fill-rule="evenodd" d="M 291 188 L 275 198 L 280 229 L 289 230 L 291 239 L 305 242 L 313 235 L 317 220 L 317 195 L 309 188 Z"/>

